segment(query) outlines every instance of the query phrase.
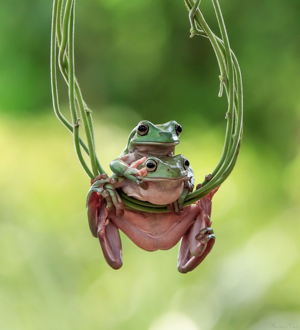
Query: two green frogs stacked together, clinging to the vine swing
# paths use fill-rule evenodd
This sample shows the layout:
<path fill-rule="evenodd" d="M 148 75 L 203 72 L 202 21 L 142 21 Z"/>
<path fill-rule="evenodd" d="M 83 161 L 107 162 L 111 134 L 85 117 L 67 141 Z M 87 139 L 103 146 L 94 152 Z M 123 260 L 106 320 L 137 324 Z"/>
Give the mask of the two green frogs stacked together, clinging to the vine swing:
<path fill-rule="evenodd" d="M 129 135 L 119 158 L 110 163 L 113 175 L 99 175 L 87 198 L 91 232 L 98 237 L 107 263 L 122 266 L 119 230 L 147 251 L 172 248 L 181 239 L 178 270 L 197 267 L 215 242 L 210 221 L 211 198 L 217 189 L 183 208 L 193 191 L 193 170 L 183 155 L 174 155 L 182 127 L 176 121 L 154 125 L 140 122 Z M 157 205 L 168 204 L 167 213 L 138 213 L 124 209 L 116 189 Z"/>

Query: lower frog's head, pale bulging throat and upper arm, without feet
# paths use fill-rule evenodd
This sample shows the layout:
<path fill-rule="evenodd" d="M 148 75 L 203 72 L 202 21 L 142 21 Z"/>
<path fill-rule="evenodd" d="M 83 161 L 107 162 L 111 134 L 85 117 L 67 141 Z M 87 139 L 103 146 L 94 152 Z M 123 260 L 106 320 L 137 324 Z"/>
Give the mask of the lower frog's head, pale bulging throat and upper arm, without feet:
<path fill-rule="evenodd" d="M 138 180 L 144 182 L 143 188 L 131 180 L 120 185 L 128 196 L 157 205 L 177 201 L 188 185 L 190 162 L 183 155 L 172 157 L 154 157 L 142 159 L 137 166 L 140 172 Z"/>

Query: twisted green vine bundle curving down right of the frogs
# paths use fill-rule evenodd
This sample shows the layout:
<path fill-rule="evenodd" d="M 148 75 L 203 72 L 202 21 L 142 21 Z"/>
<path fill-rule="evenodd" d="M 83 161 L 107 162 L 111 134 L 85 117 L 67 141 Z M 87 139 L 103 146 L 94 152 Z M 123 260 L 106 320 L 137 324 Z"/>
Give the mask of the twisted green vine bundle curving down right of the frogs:
<path fill-rule="evenodd" d="M 234 55 L 234 53 L 232 52 L 229 46 L 226 28 L 222 18 L 218 1 L 217 0 L 212 0 L 212 1 L 214 3 L 220 29 L 222 28 L 223 30 L 223 33 L 221 31 L 221 34 L 222 37 L 225 38 L 225 42 L 222 39 L 216 37 L 211 32 L 199 9 L 195 11 L 193 7 L 195 3 L 193 2 L 193 0 L 186 0 L 185 2 L 187 8 L 190 11 L 191 10 L 195 11 L 196 22 L 202 29 L 202 30 L 197 29 L 197 31 L 193 31 L 193 26 L 192 26 L 191 32 L 192 33 L 196 32 L 197 34 L 201 34 L 201 35 L 205 34 L 210 39 L 213 48 L 215 50 L 215 53 L 217 55 L 220 70 L 222 70 L 222 68 L 230 68 L 226 72 L 226 76 L 225 76 L 226 70 L 224 71 L 223 69 L 223 71 L 221 71 L 221 77 L 224 80 L 224 86 L 226 88 L 227 91 L 226 94 L 229 101 L 228 102 L 229 111 L 227 113 L 227 117 L 230 120 L 228 121 L 228 125 L 227 125 L 223 153 L 217 167 L 212 172 L 213 173 L 212 179 L 210 181 L 202 182 L 202 187 L 200 189 L 197 189 L 193 193 L 189 194 L 184 202 L 184 206 L 187 206 L 193 203 L 194 201 L 198 200 L 199 198 L 202 198 L 212 189 L 214 189 L 215 187 L 217 187 L 218 185 L 220 185 L 222 182 L 225 181 L 225 179 L 229 176 L 229 174 L 234 168 L 240 148 L 240 139 L 242 133 L 242 83 L 241 83 L 240 69 L 236 60 L 236 56 Z M 199 3 L 199 1 L 197 2 Z M 216 44 L 218 45 L 217 47 Z M 230 64 L 228 64 L 228 62 Z M 145 207 L 147 204 L 143 204 L 143 206 L 141 206 L 140 202 L 136 202 L 136 203 L 139 204 L 139 209 L 140 210 L 143 209 L 143 211 L 145 212 Z M 127 200 L 124 201 L 124 204 L 130 208 L 133 207 L 133 205 L 131 203 L 128 203 Z M 155 212 L 153 211 L 152 208 L 151 210 L 152 210 L 151 212 Z M 167 212 L 165 210 L 164 211 L 162 210 L 164 209 L 160 208 L 160 212 Z"/>

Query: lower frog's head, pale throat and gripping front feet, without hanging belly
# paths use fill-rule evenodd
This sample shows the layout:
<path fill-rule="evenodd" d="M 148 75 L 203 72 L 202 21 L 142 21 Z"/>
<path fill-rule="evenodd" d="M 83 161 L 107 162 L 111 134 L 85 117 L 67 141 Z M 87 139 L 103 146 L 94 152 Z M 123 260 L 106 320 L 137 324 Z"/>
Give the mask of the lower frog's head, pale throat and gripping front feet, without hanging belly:
<path fill-rule="evenodd" d="M 190 183 L 190 162 L 183 155 L 173 157 L 143 157 L 129 165 L 135 169 L 139 184 L 125 176 L 113 174 L 108 179 L 100 175 L 92 184 L 90 192 L 96 191 L 107 200 L 108 211 L 116 209 L 123 214 L 124 206 L 116 192 L 120 188 L 127 196 L 148 201 L 156 205 L 173 204 L 176 213 L 182 213 L 182 205 L 192 192 Z"/>

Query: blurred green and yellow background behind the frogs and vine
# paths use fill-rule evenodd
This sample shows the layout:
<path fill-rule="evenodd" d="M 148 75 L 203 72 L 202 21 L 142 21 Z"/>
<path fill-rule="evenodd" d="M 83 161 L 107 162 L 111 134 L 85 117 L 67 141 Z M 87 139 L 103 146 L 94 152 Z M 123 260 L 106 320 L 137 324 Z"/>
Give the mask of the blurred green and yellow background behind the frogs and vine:
<path fill-rule="evenodd" d="M 244 138 L 213 199 L 216 244 L 182 275 L 178 246 L 150 253 L 123 234 L 123 267 L 109 268 L 88 228 L 89 180 L 52 109 L 52 3 L 0 3 L 1 330 L 300 328 L 300 2 L 220 5 L 243 76 Z M 218 34 L 212 4 L 201 8 Z M 142 119 L 183 126 L 177 152 L 197 182 L 217 164 L 227 100 L 208 40 L 189 30 L 182 1 L 77 1 L 76 76 L 107 171 Z"/>

